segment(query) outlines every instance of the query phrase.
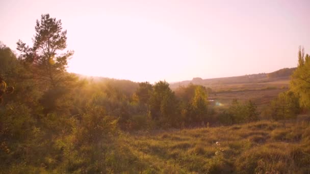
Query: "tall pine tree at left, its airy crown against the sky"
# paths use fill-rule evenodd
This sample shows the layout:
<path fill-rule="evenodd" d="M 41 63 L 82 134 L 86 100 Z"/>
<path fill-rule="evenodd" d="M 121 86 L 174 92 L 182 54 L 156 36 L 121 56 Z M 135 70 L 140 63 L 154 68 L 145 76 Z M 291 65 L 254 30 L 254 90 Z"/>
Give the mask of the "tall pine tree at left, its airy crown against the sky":
<path fill-rule="evenodd" d="M 67 112 L 66 102 L 59 101 L 65 101 L 64 97 L 79 86 L 78 78 L 66 72 L 68 59 L 73 55 L 73 51 L 65 51 L 67 31 L 63 30 L 61 20 L 43 14 L 36 21 L 35 32 L 32 46 L 17 42 L 21 62 L 28 70 L 27 79 L 43 93 L 39 103 L 45 114 L 55 110 Z"/>

